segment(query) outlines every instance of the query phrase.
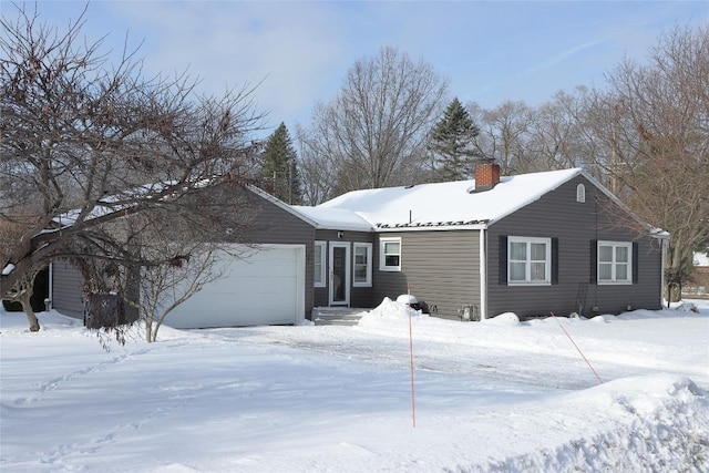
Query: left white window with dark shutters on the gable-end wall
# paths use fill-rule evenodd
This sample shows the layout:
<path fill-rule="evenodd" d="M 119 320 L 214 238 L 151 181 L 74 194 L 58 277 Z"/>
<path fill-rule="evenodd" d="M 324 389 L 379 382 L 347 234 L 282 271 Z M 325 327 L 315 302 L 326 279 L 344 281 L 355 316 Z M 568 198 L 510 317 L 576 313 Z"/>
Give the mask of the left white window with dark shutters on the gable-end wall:
<path fill-rule="evenodd" d="M 552 282 L 552 239 L 507 238 L 507 284 L 548 285 Z"/>

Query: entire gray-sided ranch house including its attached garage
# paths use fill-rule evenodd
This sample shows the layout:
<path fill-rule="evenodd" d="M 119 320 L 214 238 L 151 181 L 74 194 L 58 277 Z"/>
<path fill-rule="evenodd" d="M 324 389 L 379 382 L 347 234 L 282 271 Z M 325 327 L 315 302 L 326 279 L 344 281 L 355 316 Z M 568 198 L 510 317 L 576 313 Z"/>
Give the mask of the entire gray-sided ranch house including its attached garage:
<path fill-rule="evenodd" d="M 474 181 L 356 191 L 318 206 L 240 189 L 255 212 L 242 241 L 261 250 L 167 325 L 299 323 L 315 308 L 372 308 L 402 294 L 458 320 L 661 307 L 666 236 L 623 225 L 633 216 L 582 169 L 501 177 L 484 164 Z M 53 275 L 53 307 L 76 315 L 71 268 Z"/>

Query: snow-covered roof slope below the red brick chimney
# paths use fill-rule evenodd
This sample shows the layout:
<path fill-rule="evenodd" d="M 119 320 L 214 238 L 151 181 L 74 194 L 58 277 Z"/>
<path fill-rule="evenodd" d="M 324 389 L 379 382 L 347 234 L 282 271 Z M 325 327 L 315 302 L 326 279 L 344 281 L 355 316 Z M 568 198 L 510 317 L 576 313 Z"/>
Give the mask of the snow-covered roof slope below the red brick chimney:
<path fill-rule="evenodd" d="M 490 191 L 474 192 L 475 181 L 353 191 L 297 210 L 320 228 L 391 230 L 490 225 L 537 200 L 580 168 L 501 177 Z"/>

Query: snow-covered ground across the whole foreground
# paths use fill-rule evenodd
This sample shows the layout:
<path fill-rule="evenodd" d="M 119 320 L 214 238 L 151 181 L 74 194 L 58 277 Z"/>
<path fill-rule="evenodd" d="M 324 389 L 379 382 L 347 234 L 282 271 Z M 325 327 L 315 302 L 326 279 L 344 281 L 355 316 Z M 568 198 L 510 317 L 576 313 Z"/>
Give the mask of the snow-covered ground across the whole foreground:
<path fill-rule="evenodd" d="M 384 300 L 357 327 L 163 327 L 107 352 L 0 312 L 0 471 L 709 471 L 692 302 L 476 323 Z"/>

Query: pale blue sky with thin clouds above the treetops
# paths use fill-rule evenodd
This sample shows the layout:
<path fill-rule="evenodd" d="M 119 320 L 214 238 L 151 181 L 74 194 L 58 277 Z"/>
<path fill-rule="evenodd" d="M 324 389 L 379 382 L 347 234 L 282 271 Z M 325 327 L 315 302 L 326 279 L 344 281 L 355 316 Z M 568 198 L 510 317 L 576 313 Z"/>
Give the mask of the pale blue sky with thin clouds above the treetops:
<path fill-rule="evenodd" d="M 10 14 L 2 0 L 3 14 Z M 83 1 L 40 1 L 65 25 Z M 33 2 L 29 4 L 33 7 Z M 709 22 L 709 1 L 93 1 L 88 39 L 116 52 L 142 42 L 144 71 L 188 68 L 201 89 L 257 85 L 267 124 L 307 125 L 356 60 L 393 45 L 423 59 L 463 103 L 536 105 L 558 90 L 602 85 L 624 55 L 643 61 L 675 24 Z"/>

